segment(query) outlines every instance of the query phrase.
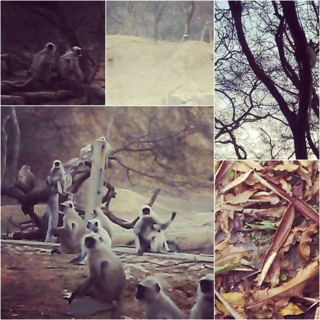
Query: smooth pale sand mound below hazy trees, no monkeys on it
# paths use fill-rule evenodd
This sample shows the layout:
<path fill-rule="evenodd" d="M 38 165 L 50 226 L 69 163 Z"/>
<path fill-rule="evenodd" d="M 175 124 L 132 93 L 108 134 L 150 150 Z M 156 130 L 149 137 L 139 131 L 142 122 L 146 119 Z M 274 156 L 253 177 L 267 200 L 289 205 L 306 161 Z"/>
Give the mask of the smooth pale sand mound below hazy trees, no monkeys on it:
<path fill-rule="evenodd" d="M 211 105 L 212 54 L 212 44 L 203 41 L 175 43 L 134 36 L 107 35 L 107 104 Z M 169 95 L 182 98 L 176 102 L 171 99 L 170 102 Z M 203 102 L 200 97 L 205 95 L 209 99 L 206 98 Z"/>

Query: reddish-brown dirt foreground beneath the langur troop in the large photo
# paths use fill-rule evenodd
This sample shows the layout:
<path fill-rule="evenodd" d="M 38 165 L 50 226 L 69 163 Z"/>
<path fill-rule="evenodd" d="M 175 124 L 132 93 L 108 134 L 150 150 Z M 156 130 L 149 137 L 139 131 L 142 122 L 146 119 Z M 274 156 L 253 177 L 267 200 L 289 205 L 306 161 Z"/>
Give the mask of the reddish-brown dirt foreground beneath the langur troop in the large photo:
<path fill-rule="evenodd" d="M 45 248 L 1 244 L 1 319 L 72 318 L 64 314 L 67 301 L 63 299 L 63 290 L 70 292 L 80 284 L 87 274 L 86 266 L 68 263 L 74 254 L 50 255 L 49 252 L 50 249 Z M 166 259 L 163 263 L 161 258 L 150 259 L 131 254 L 120 254 L 119 257 L 126 271 L 123 314 L 136 319 L 143 318 L 143 308 L 134 301 L 135 285 L 137 278 L 144 277 L 144 272 L 135 269 L 136 265 L 143 262 L 143 267 L 150 274 L 160 273 L 173 289 L 168 295 L 186 316 L 194 304 L 196 279 L 212 272 L 206 267 L 213 266 L 213 262 L 186 262 L 168 267 L 166 265 L 177 261 Z M 165 263 L 163 267 L 158 265 Z M 92 319 L 110 317 L 110 311 L 81 316 Z"/>

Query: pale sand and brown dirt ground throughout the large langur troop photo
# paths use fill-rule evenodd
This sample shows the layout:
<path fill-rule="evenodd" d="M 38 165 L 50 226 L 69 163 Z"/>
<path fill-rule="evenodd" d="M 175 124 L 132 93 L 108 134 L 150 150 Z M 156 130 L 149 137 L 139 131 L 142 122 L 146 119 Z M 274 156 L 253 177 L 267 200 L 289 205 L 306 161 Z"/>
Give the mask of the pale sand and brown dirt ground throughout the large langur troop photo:
<path fill-rule="evenodd" d="M 143 195 L 127 189 L 116 191 L 117 197 L 111 202 L 111 209 L 114 214 L 128 220 L 136 216 L 140 205 L 148 202 L 152 195 L 152 192 Z M 165 231 L 167 237 L 174 240 L 181 251 L 210 253 L 212 262 L 194 263 L 175 254 L 167 254 L 163 258 L 156 254 L 137 256 L 117 252 L 126 272 L 123 314 L 130 318 L 143 318 L 142 306 L 133 299 L 136 282 L 148 274 L 160 273 L 172 288 L 168 295 L 187 316 L 194 304 L 198 277 L 213 272 L 212 195 L 208 191 L 181 197 L 160 193 L 153 208 L 163 220 L 176 210 L 176 219 Z M 38 213 L 44 209 L 43 205 L 35 207 Z M 26 219 L 18 206 L 1 207 L 1 232 L 6 230 L 9 216 L 13 216 L 14 221 Z M 12 226 L 9 228 L 10 231 L 14 229 Z M 112 231 L 115 245 L 133 239 L 132 230 L 114 225 Z M 68 263 L 73 257 L 72 254 L 50 255 L 50 248 L 2 241 L 1 318 L 72 318 L 64 314 L 67 301 L 62 298 L 63 290 L 74 290 L 87 274 L 85 265 Z M 145 270 L 142 268 L 141 271 L 141 266 Z M 110 312 L 102 311 L 84 318 L 110 318 Z"/>

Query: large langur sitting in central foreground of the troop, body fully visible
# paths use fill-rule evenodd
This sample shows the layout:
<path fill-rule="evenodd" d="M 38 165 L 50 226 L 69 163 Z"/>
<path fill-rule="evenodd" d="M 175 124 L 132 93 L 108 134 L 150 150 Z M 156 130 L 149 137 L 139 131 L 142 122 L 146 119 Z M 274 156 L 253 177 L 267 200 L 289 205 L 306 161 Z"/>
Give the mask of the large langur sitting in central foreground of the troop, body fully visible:
<path fill-rule="evenodd" d="M 89 275 L 71 294 L 68 301 L 84 295 L 105 301 L 116 301 L 114 318 L 121 318 L 125 273 L 120 259 L 95 233 L 85 236 Z"/>

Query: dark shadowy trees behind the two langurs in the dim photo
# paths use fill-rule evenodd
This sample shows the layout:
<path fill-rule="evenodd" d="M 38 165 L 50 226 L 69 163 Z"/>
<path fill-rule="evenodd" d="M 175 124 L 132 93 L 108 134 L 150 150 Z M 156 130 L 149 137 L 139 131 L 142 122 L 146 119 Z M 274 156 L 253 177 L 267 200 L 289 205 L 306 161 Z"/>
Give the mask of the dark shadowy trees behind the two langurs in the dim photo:
<path fill-rule="evenodd" d="M 1 52 L 8 47 L 38 51 L 71 30 L 71 46 L 77 39 L 86 46 L 104 43 L 104 10 L 104 1 L 1 2 Z"/>

